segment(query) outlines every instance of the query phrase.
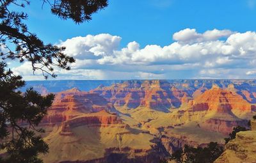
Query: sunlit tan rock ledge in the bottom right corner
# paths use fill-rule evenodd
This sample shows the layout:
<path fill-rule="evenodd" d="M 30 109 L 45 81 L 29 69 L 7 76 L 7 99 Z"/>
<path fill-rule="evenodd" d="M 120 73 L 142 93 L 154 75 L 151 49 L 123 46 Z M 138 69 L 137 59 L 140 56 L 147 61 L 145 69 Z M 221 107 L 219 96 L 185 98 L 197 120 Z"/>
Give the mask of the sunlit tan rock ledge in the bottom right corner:
<path fill-rule="evenodd" d="M 214 163 L 256 162 L 256 131 L 243 131 L 236 134 L 236 139 L 225 145 L 225 151 Z"/>

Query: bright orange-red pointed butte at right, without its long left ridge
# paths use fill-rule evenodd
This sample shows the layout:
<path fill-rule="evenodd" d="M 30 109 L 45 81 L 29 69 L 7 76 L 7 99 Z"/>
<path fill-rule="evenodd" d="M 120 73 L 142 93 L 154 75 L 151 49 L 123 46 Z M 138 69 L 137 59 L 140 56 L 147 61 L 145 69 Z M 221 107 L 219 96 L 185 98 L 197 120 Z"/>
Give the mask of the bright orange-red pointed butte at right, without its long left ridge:
<path fill-rule="evenodd" d="M 200 127 L 223 134 L 228 134 L 237 125 L 247 125 L 244 118 L 252 115 L 252 105 L 249 102 L 236 92 L 218 86 L 212 86 L 189 104 L 191 106 L 187 112 L 191 118 L 196 112 L 201 114 L 201 117 L 197 114 L 192 118 L 202 118 L 201 121 L 198 120 Z"/>

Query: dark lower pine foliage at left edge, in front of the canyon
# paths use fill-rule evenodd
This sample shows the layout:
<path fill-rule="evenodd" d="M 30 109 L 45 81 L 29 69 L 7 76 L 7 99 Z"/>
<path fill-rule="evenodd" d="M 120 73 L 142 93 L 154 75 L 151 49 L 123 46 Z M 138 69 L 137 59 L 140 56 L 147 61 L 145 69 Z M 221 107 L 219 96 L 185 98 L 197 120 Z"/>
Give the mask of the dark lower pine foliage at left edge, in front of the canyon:
<path fill-rule="evenodd" d="M 5 67 L 6 63 L 1 62 L 0 149 L 6 151 L 1 162 L 41 162 L 38 153 L 47 152 L 48 146 L 42 137 L 36 136 L 35 132 L 44 132 L 36 126 L 47 114 L 54 95 L 42 97 L 32 88 L 25 93 L 17 91 L 25 82 Z"/>

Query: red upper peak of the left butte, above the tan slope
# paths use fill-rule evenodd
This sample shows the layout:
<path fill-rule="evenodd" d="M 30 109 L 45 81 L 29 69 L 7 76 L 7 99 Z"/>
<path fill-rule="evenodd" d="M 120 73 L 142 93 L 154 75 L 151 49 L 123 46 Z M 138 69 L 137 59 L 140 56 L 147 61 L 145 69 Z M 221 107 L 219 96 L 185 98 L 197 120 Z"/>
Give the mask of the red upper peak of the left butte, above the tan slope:
<path fill-rule="evenodd" d="M 94 113 L 102 110 L 115 112 L 113 104 L 97 93 L 87 93 L 77 88 L 56 93 L 52 106 L 44 118 L 44 123 L 58 123 L 74 118 L 81 113 Z"/>

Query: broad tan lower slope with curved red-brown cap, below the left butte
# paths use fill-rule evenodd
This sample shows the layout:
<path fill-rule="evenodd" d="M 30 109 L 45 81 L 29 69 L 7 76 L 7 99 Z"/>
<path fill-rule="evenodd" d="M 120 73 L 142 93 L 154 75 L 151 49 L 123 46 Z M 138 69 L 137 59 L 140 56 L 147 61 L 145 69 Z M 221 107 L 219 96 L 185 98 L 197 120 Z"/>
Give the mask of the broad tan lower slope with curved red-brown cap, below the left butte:
<path fill-rule="evenodd" d="M 45 137 L 44 162 L 159 162 L 165 150 L 155 137 L 129 127 L 116 114 L 84 113 L 54 126 Z M 163 148 L 163 149 L 162 149 Z"/>

